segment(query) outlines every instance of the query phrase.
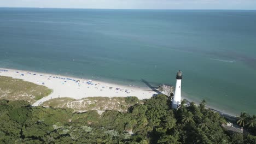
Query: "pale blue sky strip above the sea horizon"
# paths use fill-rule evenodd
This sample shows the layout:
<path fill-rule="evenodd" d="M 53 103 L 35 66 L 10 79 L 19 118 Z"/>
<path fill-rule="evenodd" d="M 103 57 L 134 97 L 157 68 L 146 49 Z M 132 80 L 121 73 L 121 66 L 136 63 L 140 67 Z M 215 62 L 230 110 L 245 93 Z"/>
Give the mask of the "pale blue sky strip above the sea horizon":
<path fill-rule="evenodd" d="M 256 0 L 0 0 L 0 7 L 256 10 Z"/>

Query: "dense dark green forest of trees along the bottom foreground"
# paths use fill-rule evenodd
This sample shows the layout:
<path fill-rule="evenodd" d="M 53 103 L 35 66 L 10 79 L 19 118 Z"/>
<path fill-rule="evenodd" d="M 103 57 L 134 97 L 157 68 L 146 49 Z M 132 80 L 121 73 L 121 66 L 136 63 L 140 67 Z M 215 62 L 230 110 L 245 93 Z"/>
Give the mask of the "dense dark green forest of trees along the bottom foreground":
<path fill-rule="evenodd" d="M 222 127 L 225 118 L 205 108 L 185 105 L 170 109 L 171 101 L 157 95 L 127 112 L 83 113 L 73 109 L 33 107 L 26 101 L 0 100 L 0 143 L 256 143 L 255 116 L 241 113 L 237 123 L 248 133 Z"/>

